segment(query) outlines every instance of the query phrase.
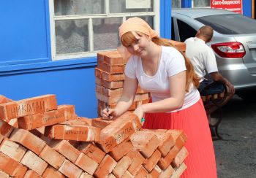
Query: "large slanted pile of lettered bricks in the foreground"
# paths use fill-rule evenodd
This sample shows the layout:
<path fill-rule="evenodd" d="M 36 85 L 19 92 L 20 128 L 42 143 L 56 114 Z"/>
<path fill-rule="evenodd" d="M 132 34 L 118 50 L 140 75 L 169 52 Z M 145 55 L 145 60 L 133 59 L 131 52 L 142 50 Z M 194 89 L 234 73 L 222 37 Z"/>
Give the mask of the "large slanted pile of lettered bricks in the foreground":
<path fill-rule="evenodd" d="M 141 129 L 131 112 L 78 117 L 45 95 L 1 101 L 0 118 L 0 177 L 180 177 L 186 169 L 183 131 Z M 14 118 L 16 127 L 7 122 Z"/>

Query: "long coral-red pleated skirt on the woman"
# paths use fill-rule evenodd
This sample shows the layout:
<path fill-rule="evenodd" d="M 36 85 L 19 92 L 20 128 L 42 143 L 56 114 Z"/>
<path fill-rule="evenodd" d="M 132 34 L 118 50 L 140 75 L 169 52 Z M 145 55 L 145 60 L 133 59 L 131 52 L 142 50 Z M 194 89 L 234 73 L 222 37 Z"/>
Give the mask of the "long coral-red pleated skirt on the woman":
<path fill-rule="evenodd" d="M 187 135 L 185 147 L 189 156 L 184 160 L 187 169 L 181 177 L 217 177 L 214 145 L 201 99 L 178 112 L 147 113 L 143 128 L 183 130 Z"/>

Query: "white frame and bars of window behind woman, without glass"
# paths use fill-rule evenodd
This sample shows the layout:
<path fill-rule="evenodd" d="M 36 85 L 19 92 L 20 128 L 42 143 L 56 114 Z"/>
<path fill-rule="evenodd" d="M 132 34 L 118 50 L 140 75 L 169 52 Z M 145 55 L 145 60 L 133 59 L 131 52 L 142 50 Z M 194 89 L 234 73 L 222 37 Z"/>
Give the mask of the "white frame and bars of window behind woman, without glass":
<path fill-rule="evenodd" d="M 94 18 L 122 18 L 124 22 L 127 17 L 133 16 L 151 16 L 154 19 L 154 29 L 160 31 L 160 2 L 153 0 L 153 12 L 125 12 L 125 13 L 110 13 L 109 0 L 105 1 L 105 14 L 100 15 L 61 15 L 55 16 L 54 13 L 54 0 L 49 0 L 49 13 L 50 13 L 50 46 L 51 46 L 51 58 L 53 61 L 66 60 L 72 58 L 89 58 L 94 57 L 97 53 L 105 50 L 94 51 L 94 34 L 93 34 L 93 19 Z M 56 54 L 56 20 L 89 20 L 89 52 L 81 53 L 68 53 L 68 54 Z M 114 49 L 113 49 L 114 50 Z"/>

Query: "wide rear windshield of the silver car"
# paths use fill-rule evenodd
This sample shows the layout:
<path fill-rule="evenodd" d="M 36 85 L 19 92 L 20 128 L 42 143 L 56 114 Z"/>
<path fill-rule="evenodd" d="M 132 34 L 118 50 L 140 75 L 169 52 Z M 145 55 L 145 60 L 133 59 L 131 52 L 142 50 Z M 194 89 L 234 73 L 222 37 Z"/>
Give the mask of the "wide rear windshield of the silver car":
<path fill-rule="evenodd" d="M 255 34 L 256 20 L 244 15 L 210 15 L 195 20 L 214 28 L 219 34 Z"/>

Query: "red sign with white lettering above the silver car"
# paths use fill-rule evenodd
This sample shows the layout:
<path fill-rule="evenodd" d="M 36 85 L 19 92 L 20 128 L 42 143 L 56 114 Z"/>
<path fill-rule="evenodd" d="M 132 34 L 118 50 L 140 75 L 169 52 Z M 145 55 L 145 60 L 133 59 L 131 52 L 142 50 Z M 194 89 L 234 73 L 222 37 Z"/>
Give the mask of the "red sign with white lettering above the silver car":
<path fill-rule="evenodd" d="M 211 9 L 225 9 L 242 14 L 242 4 L 242 0 L 211 0 Z"/>

